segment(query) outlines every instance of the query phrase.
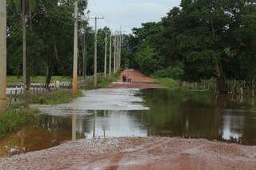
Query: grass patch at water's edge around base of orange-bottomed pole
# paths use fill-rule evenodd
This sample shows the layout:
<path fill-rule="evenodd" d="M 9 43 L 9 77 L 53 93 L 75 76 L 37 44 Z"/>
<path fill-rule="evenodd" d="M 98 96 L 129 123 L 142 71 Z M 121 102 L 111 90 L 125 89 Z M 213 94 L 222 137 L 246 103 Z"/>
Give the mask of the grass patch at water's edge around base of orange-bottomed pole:
<path fill-rule="evenodd" d="M 32 97 L 31 102 L 39 105 L 58 105 L 69 103 L 76 97 L 82 97 L 82 91 L 78 90 L 77 96 L 74 96 L 72 90 L 59 90 L 47 95 Z"/>

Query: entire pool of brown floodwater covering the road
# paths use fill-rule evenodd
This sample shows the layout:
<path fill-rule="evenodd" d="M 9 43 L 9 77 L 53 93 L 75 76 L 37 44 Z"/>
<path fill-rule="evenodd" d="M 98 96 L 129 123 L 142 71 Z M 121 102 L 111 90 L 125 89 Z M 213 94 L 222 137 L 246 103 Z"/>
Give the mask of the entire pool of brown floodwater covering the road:
<path fill-rule="evenodd" d="M 71 104 L 40 107 L 34 125 L 0 140 L 0 156 L 110 136 L 181 136 L 256 145 L 254 99 L 168 89 L 84 94 Z"/>

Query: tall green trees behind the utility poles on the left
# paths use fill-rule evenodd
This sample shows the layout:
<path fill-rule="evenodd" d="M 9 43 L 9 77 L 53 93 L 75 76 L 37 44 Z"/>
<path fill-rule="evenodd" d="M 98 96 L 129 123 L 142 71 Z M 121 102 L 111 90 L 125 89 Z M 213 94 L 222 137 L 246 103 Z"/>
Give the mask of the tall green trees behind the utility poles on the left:
<path fill-rule="evenodd" d="M 25 2 L 25 9 L 22 9 L 22 2 Z M 74 1 L 7 0 L 6 3 L 7 74 L 24 76 L 26 65 L 28 89 L 30 77 L 45 75 L 46 85 L 50 84 L 53 75 L 70 77 L 74 52 Z M 88 20 L 82 18 L 86 8 L 87 1 L 78 2 L 78 74 L 81 77 L 94 73 L 94 30 Z M 110 36 L 110 28 L 98 30 L 99 73 L 104 72 L 106 34 Z"/>

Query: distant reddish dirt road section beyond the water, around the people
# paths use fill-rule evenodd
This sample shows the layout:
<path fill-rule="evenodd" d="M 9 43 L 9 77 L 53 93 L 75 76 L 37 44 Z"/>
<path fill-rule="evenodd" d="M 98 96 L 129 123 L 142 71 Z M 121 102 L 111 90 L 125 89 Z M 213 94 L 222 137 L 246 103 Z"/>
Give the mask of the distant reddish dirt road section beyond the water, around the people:
<path fill-rule="evenodd" d="M 131 83 L 123 83 L 122 75 L 129 75 L 132 79 Z M 112 83 L 108 88 L 138 88 L 138 89 L 152 89 L 152 88 L 161 88 L 160 85 L 154 84 L 154 79 L 151 77 L 146 77 L 142 73 L 134 69 L 124 70 L 119 77 L 118 82 Z"/>

